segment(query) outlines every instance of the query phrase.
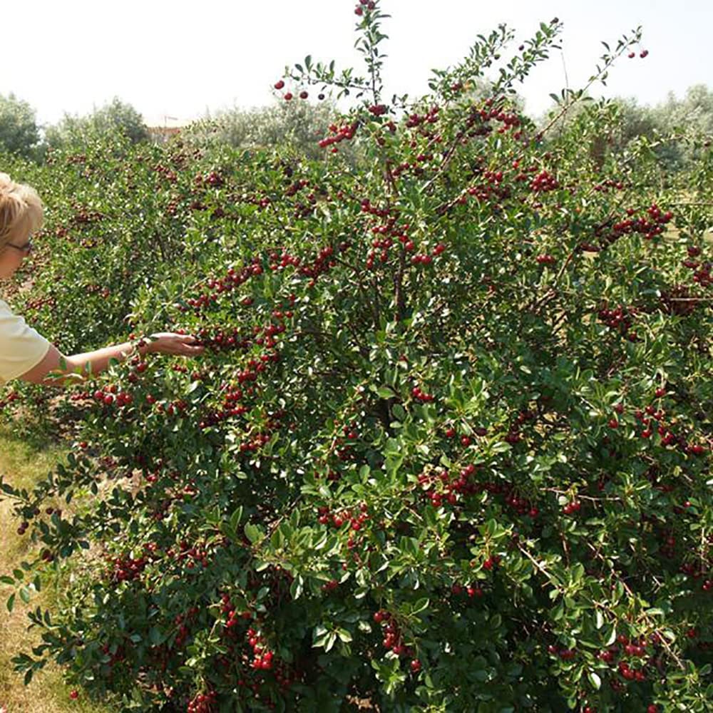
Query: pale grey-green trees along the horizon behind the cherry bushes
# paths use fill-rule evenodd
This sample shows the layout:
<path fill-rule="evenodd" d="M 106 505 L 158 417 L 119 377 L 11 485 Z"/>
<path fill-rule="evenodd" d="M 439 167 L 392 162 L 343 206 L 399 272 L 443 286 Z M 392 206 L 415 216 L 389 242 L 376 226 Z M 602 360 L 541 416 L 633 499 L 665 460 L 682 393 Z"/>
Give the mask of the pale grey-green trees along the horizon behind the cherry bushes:
<path fill-rule="evenodd" d="M 483 91 L 479 87 L 474 93 Z M 620 150 L 634 140 L 646 140 L 666 168 L 680 170 L 695 159 L 696 147 L 713 135 L 713 91 L 704 84 L 689 87 L 682 98 L 670 92 L 665 101 L 655 106 L 620 97 L 591 100 L 579 106 L 578 111 L 557 118 L 557 128 L 560 133 L 586 133 L 584 127 L 591 125 L 594 116 L 601 119 L 605 115 L 607 121 L 603 125 L 608 125 L 609 130 L 588 137 L 594 155 L 604 155 L 607 147 Z M 335 113 L 336 107 L 329 100 L 319 104 L 293 101 L 251 109 L 232 108 L 214 116 L 207 114 L 183 128 L 181 135 L 185 143 L 203 146 L 260 148 L 280 143 L 302 155 L 319 158 L 323 152 L 317 147 L 317 139 L 327 133 Z M 557 116 L 558 106 L 553 105 L 534 120 L 545 126 Z M 601 127 L 602 123 L 597 125 Z M 65 113 L 57 123 L 40 125 L 28 102 L 13 93 L 0 94 L 0 152 L 43 163 L 52 150 L 81 150 L 93 138 L 113 132 L 133 143 L 152 139 L 140 112 L 120 98 L 83 116 Z"/>

